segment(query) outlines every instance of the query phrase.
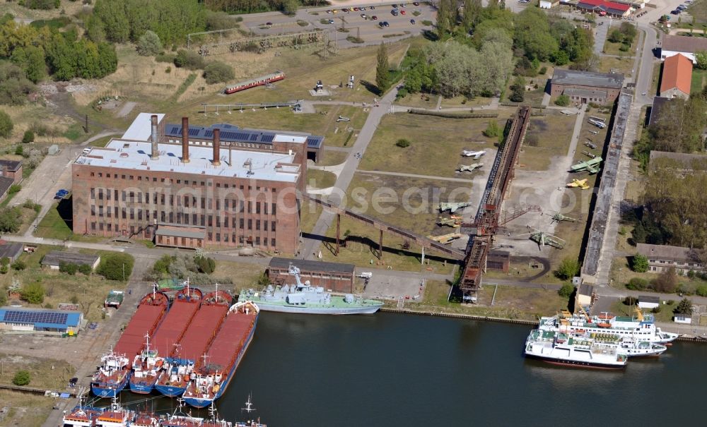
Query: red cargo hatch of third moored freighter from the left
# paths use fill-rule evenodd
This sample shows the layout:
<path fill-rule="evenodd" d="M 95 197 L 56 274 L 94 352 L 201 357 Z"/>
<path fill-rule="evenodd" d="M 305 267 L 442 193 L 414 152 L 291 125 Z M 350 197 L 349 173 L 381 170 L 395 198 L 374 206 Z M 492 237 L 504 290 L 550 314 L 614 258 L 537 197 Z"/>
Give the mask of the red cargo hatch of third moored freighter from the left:
<path fill-rule="evenodd" d="M 180 340 L 179 354 L 175 354 L 173 357 L 181 361 L 198 361 L 206 353 L 206 349 L 209 347 L 211 339 L 216 335 L 218 327 L 221 326 L 227 311 L 228 306 L 201 305 L 197 315 L 192 318 L 192 323 L 189 323 L 187 332 Z"/>

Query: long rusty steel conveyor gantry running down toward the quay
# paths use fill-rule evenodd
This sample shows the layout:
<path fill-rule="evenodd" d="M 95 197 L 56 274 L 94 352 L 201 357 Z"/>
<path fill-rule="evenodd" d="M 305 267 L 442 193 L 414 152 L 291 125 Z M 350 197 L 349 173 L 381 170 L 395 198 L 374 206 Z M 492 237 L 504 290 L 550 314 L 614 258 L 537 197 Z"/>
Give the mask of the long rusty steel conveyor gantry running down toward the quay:
<path fill-rule="evenodd" d="M 464 258 L 464 270 L 459 282 L 463 302 L 477 300 L 477 291 L 481 287 L 481 272 L 486 270 L 486 256 L 491 250 L 493 236 L 498 227 L 502 225 L 499 224 L 501 203 L 503 203 L 510 181 L 513 179 L 513 170 L 515 163 L 518 162 L 518 154 L 528 124 L 530 124 L 530 107 L 518 107 L 510 125 L 506 143 L 498 150 L 496 159 L 493 161 L 489 181 L 486 183 L 484 195 L 481 196 L 477 215 L 474 217 L 474 222 L 469 224 L 469 243 Z M 527 210 L 529 209 L 524 211 L 527 212 Z M 511 215 L 511 219 L 520 215 Z M 505 219 L 503 222 L 509 220 Z"/>

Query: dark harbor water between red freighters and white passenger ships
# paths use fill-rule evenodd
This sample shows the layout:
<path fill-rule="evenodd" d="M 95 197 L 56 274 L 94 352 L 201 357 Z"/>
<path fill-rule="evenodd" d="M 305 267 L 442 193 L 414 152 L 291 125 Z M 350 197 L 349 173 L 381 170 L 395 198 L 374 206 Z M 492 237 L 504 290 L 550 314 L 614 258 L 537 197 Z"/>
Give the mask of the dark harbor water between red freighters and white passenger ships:
<path fill-rule="evenodd" d="M 252 395 L 269 427 L 701 425 L 707 345 L 675 342 L 660 358 L 631 359 L 626 371 L 563 368 L 522 356 L 529 330 L 394 313 L 264 312 L 218 412 L 246 419 Z"/>

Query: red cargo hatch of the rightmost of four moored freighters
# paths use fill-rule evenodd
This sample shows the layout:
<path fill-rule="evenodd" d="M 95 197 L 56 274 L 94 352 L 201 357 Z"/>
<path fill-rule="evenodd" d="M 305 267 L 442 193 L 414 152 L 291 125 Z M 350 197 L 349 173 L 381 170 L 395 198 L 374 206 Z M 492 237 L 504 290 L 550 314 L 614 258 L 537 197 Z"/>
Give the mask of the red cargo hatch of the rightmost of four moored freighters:
<path fill-rule="evenodd" d="M 245 346 L 245 340 L 252 330 L 254 322 L 254 311 L 249 314 L 229 313 L 221 329 L 218 330 L 214 342 L 209 347 L 209 352 L 206 354 L 206 364 L 215 368 L 230 368 L 230 364 Z"/>

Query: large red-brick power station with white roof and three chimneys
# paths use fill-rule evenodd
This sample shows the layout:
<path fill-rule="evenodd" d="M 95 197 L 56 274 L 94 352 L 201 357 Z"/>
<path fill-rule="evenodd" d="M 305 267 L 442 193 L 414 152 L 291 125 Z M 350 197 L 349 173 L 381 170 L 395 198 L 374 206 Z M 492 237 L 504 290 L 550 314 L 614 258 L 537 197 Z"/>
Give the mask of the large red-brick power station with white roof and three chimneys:
<path fill-rule="evenodd" d="M 309 137 L 269 131 L 266 142 L 249 131 L 223 145 L 223 127 L 192 129 L 187 118 L 168 125 L 164 114 L 141 113 L 122 138 L 79 155 L 74 233 L 296 253 Z"/>

